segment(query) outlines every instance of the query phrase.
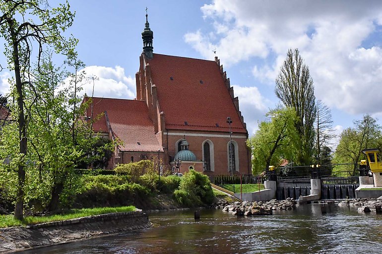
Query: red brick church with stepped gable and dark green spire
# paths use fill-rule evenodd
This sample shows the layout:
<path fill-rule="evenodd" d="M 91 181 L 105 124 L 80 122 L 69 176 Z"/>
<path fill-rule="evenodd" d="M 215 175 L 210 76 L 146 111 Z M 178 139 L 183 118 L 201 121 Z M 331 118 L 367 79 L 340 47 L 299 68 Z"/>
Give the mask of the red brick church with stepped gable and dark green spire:
<path fill-rule="evenodd" d="M 108 168 L 159 156 L 164 170 L 178 158 L 181 173 L 252 174 L 246 123 L 219 59 L 153 53 L 147 14 L 142 40 L 136 98 L 93 98 L 87 110 L 100 115 L 96 132 L 120 142 Z"/>

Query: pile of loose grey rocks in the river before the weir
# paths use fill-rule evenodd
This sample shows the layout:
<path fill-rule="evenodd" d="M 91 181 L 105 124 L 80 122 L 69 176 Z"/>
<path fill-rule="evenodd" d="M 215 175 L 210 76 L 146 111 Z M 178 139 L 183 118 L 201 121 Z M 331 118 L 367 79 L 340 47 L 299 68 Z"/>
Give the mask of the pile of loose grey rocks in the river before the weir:
<path fill-rule="evenodd" d="M 288 198 L 283 201 L 271 200 L 267 202 L 235 202 L 229 204 L 227 202 L 215 203 L 212 208 L 223 209 L 225 212 L 232 212 L 236 216 L 256 216 L 256 215 L 272 215 L 272 210 L 292 210 L 296 208 L 297 202 Z"/>

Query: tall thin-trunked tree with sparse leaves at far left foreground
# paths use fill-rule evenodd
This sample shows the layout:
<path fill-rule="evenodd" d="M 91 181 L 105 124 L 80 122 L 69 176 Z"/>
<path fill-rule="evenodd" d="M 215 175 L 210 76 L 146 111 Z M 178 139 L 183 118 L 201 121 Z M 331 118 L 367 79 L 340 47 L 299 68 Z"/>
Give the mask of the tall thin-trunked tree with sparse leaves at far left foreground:
<path fill-rule="evenodd" d="M 27 153 L 27 124 L 30 119 L 24 108 L 24 92 L 31 89 L 32 62 L 40 62 L 47 48 L 69 55 L 75 39 L 66 40 L 65 30 L 72 25 L 74 13 L 68 2 L 51 7 L 47 0 L 1 0 L 0 36 L 5 40 L 4 54 L 8 68 L 14 72 L 12 96 L 17 102 L 15 120 L 18 129 L 17 194 L 14 217 L 23 218 L 25 165 Z M 39 64 L 38 64 L 39 65 Z"/>

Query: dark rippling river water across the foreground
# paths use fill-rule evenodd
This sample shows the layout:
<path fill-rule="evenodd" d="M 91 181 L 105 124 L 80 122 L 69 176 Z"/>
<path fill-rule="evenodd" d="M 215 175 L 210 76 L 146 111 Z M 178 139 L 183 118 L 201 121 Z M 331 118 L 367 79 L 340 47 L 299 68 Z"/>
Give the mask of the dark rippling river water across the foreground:
<path fill-rule="evenodd" d="M 150 229 L 23 254 L 286 254 L 382 253 L 382 215 L 307 204 L 272 216 L 235 217 L 220 210 L 151 213 Z"/>

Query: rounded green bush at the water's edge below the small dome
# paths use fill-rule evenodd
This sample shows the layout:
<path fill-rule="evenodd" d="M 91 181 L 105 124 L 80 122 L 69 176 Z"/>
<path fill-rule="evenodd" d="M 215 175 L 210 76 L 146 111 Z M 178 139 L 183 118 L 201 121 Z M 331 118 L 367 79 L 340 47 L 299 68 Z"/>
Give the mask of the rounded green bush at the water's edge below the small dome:
<path fill-rule="evenodd" d="M 181 178 L 178 190 L 174 192 L 175 199 L 187 206 L 210 204 L 214 194 L 208 176 L 190 170 Z"/>

